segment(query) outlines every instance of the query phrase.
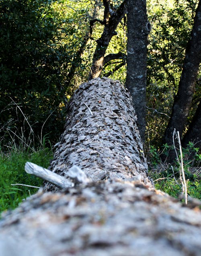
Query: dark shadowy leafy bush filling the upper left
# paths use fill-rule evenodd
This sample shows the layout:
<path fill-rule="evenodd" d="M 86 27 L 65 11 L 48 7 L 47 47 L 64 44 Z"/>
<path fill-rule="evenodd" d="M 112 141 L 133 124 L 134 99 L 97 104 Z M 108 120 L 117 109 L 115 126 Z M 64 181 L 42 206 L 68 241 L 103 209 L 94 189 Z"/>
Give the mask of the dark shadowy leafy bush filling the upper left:
<path fill-rule="evenodd" d="M 68 89 L 62 21 L 48 1 L 2 0 L 0 23 L 2 139 L 11 140 L 12 132 L 24 138 L 39 136 L 49 117 L 42 133 L 55 141 L 64 126 L 61 103 Z M 12 137 L 18 141 L 17 136 Z"/>

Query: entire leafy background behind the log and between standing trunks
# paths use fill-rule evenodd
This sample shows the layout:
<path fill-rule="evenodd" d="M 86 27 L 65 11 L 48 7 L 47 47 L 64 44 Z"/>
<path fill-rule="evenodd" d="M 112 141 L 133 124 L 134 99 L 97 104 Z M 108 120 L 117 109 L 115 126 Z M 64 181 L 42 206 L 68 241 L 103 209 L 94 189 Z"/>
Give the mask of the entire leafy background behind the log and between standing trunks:
<path fill-rule="evenodd" d="M 107 1 L 2 0 L 0 2 L 1 147 L 12 140 L 39 145 L 59 140 L 66 104 L 87 81 L 103 33 Z M 117 13 L 124 1 L 110 1 Z M 149 0 L 146 143 L 159 147 L 178 91 L 197 0 Z M 101 76 L 125 84 L 127 14 L 107 49 Z M 106 58 L 107 57 L 107 58 Z M 201 95 L 200 69 L 183 134 Z M 179 120 L 178 120 L 179 122 Z"/>

